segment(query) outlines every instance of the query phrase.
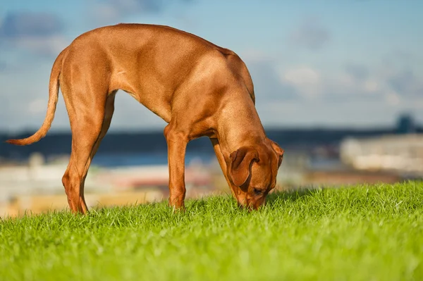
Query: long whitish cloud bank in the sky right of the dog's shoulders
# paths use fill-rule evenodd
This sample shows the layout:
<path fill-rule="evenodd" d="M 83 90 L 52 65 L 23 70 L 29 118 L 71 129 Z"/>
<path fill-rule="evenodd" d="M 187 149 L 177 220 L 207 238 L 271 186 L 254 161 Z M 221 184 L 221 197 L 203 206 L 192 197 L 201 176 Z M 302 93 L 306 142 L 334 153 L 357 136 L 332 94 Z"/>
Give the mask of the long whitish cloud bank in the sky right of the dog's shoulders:
<path fill-rule="evenodd" d="M 389 105 L 398 105 L 408 96 L 415 99 L 423 93 L 423 77 L 411 70 L 383 71 L 362 65 L 338 72 L 316 70 L 311 65 L 279 68 L 280 79 L 294 87 L 308 100 L 339 100 L 375 98 Z"/>

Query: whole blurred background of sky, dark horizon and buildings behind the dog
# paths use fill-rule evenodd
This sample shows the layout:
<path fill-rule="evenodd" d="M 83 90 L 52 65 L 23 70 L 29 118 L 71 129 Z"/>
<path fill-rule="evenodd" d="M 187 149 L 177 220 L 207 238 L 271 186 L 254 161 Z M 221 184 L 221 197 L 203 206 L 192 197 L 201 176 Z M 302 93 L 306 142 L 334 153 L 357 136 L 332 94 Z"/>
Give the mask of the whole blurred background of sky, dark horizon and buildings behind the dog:
<path fill-rule="evenodd" d="M 423 176 L 423 1 L 92 0 L 0 3 L 0 216 L 66 208 L 71 151 L 59 94 L 47 137 L 51 65 L 83 32 L 154 23 L 235 51 L 255 83 L 266 134 L 285 149 L 278 189 Z M 88 173 L 89 206 L 168 196 L 166 123 L 118 92 Z M 188 144 L 187 197 L 231 194 L 206 138 Z"/>

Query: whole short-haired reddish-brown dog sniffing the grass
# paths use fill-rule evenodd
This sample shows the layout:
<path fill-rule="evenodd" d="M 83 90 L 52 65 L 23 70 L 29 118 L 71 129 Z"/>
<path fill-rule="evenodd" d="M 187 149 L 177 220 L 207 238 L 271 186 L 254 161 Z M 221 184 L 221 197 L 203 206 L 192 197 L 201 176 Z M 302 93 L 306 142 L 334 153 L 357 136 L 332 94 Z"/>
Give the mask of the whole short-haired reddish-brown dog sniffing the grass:
<path fill-rule="evenodd" d="M 72 130 L 71 159 L 63 175 L 68 203 L 87 212 L 84 182 L 114 113 L 118 89 L 168 125 L 169 204 L 184 208 L 185 147 L 208 136 L 240 206 L 259 208 L 276 185 L 283 149 L 268 139 L 255 109 L 250 73 L 231 50 L 161 25 L 119 24 L 76 38 L 56 58 L 42 127 L 26 145 L 47 134 L 59 83 Z"/>

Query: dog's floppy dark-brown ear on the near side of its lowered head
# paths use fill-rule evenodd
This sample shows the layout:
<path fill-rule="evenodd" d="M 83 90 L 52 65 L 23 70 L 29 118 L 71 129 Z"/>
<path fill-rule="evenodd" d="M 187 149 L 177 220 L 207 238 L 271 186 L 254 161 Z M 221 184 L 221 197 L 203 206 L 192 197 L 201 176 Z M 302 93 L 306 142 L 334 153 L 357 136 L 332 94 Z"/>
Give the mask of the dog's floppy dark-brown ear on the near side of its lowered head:
<path fill-rule="evenodd" d="M 241 147 L 231 153 L 228 173 L 234 185 L 240 187 L 250 177 L 252 161 L 259 161 L 259 153 L 252 147 Z"/>

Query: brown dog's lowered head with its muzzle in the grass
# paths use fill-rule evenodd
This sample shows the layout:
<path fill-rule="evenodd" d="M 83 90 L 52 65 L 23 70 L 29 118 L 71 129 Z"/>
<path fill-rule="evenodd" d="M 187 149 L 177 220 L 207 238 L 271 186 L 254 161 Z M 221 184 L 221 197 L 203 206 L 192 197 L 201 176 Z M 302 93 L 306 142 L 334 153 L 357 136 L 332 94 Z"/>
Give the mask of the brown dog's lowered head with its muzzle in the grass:
<path fill-rule="evenodd" d="M 266 201 L 276 185 L 276 175 L 283 159 L 283 149 L 270 139 L 259 146 L 243 146 L 227 160 L 227 175 L 233 185 L 238 204 L 257 209 Z"/>

